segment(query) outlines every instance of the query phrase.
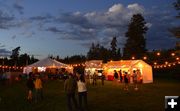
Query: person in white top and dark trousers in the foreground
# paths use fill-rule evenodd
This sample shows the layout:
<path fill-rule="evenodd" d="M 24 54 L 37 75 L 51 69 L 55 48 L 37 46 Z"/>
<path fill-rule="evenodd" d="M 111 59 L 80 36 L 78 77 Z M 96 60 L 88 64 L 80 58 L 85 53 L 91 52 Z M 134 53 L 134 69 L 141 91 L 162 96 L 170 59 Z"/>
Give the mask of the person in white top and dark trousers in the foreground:
<path fill-rule="evenodd" d="M 83 111 L 82 101 L 84 102 L 84 108 L 87 110 L 87 88 L 85 83 L 84 75 L 78 76 L 79 80 L 77 82 L 78 86 L 78 98 L 79 98 L 79 108 Z"/>

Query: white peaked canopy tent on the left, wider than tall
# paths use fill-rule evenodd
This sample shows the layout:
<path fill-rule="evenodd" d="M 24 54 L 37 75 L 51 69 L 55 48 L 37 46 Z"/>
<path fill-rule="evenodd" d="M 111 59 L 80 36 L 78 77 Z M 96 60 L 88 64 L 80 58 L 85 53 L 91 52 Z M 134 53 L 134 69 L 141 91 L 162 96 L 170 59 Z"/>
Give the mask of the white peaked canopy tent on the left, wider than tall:
<path fill-rule="evenodd" d="M 45 58 L 45 59 L 42 59 L 36 63 L 33 63 L 31 65 L 24 67 L 23 73 L 28 74 L 28 73 L 33 71 L 33 68 L 37 68 L 38 72 L 45 71 L 47 68 L 49 68 L 49 69 L 65 68 L 68 72 L 73 71 L 73 68 L 71 66 L 64 64 L 64 63 L 61 63 L 61 62 L 58 62 L 58 61 L 51 59 L 51 58 Z"/>

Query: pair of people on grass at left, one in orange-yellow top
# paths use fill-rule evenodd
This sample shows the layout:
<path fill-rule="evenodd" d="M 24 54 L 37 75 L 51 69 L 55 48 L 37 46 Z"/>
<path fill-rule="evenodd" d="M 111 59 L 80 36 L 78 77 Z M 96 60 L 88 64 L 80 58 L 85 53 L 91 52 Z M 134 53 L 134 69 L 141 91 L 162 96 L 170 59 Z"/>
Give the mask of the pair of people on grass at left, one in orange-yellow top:
<path fill-rule="evenodd" d="M 43 99 L 43 85 L 39 74 L 37 74 L 36 77 L 33 78 L 32 73 L 30 73 L 26 85 L 28 87 L 27 100 L 29 102 L 32 102 L 33 98 L 35 98 L 35 102 Z M 35 95 L 33 96 L 34 90 Z"/>

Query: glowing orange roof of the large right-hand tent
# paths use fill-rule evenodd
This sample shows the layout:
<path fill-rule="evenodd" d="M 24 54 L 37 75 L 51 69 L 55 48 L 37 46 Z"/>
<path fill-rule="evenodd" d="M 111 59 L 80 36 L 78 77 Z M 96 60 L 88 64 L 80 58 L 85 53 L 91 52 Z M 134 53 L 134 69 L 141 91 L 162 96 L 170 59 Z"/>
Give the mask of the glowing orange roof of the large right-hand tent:
<path fill-rule="evenodd" d="M 107 64 L 105 64 L 105 66 L 109 67 L 109 68 L 128 68 L 131 66 L 135 66 L 139 63 L 148 65 L 147 63 L 145 63 L 142 60 L 121 60 L 121 61 L 110 61 Z"/>

